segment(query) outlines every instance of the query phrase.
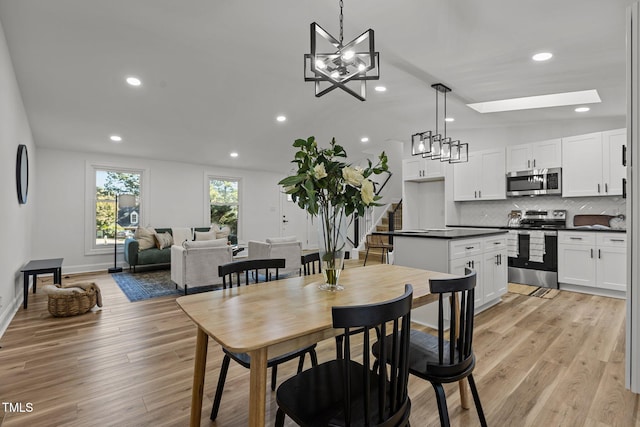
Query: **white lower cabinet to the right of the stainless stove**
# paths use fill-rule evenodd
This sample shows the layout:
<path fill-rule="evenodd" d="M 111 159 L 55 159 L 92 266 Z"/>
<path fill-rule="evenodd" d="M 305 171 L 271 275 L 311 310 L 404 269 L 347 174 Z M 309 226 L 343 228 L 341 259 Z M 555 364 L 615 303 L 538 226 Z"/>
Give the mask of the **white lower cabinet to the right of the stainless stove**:
<path fill-rule="evenodd" d="M 624 233 L 560 231 L 560 287 L 623 297 L 627 290 L 626 256 L 627 236 Z M 565 284 L 580 288 L 563 286 Z"/>

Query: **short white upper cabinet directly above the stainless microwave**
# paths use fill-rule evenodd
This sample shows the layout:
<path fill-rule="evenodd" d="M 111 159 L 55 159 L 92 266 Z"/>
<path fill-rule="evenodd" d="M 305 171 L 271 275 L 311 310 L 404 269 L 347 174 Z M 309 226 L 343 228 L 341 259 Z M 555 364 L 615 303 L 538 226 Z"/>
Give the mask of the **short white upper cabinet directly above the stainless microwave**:
<path fill-rule="evenodd" d="M 561 166 L 562 140 L 560 138 L 507 147 L 508 172 Z"/>

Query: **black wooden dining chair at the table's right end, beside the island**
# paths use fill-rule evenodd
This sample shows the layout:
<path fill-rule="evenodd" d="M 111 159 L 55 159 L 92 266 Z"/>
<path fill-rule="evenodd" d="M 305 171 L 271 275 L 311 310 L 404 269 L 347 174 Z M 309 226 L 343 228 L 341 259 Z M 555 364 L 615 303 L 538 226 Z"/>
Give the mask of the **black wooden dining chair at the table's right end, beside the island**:
<path fill-rule="evenodd" d="M 472 349 L 475 286 L 476 272 L 468 268 L 465 269 L 463 277 L 430 279 L 429 289 L 432 294 L 438 295 L 438 335 L 418 330 L 411 331 L 409 372 L 429 381 L 435 389 L 442 427 L 449 426 L 449 412 L 442 384 L 457 382 L 463 378 L 467 378 L 469 382 L 476 411 L 480 418 L 480 425 L 483 427 L 487 425 L 478 389 L 472 375 L 476 365 Z M 445 302 L 447 298 L 449 301 Z M 449 305 L 451 313 L 449 333 L 445 331 L 445 304 Z M 372 351 L 379 360 L 387 360 L 388 362 L 388 355 L 380 354 L 380 346 L 384 347 L 385 345 L 388 354 L 388 342 L 374 344 Z"/>

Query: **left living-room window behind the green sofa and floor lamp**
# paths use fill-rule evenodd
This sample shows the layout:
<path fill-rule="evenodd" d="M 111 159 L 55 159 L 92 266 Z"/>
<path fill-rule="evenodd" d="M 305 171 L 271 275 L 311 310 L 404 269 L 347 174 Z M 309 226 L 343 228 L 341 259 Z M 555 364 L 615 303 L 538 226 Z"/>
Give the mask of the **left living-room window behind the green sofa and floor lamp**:
<path fill-rule="evenodd" d="M 114 243 L 121 245 L 125 238 L 133 236 L 144 217 L 141 212 L 144 174 L 139 169 L 87 165 L 88 254 L 113 251 Z"/>

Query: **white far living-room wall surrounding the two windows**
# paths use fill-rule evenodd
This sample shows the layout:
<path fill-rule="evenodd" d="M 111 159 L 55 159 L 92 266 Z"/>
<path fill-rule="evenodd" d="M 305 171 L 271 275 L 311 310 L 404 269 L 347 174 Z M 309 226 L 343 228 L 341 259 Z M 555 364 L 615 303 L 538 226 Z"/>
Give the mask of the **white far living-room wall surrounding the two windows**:
<path fill-rule="evenodd" d="M 113 253 L 85 254 L 84 212 L 86 165 L 106 163 L 145 168 L 145 225 L 197 227 L 207 225 L 206 174 L 241 178 L 240 240 L 264 240 L 280 235 L 279 174 L 208 165 L 127 158 L 94 153 L 38 150 L 39 210 L 34 221 L 33 256 L 62 257 L 63 274 L 103 270 L 113 265 Z M 119 264 L 122 255 L 118 255 Z"/>

